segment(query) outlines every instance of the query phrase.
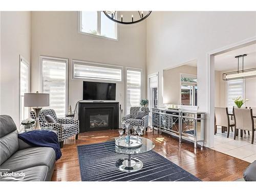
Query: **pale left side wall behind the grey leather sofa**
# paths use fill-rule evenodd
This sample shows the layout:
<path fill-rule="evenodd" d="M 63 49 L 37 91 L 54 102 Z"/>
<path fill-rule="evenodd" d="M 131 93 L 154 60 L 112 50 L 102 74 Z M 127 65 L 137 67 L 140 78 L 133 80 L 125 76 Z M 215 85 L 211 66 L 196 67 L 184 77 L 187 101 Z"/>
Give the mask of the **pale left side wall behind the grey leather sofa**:
<path fill-rule="evenodd" d="M 19 122 L 19 55 L 30 62 L 31 13 L 1 12 L 0 114 Z"/>

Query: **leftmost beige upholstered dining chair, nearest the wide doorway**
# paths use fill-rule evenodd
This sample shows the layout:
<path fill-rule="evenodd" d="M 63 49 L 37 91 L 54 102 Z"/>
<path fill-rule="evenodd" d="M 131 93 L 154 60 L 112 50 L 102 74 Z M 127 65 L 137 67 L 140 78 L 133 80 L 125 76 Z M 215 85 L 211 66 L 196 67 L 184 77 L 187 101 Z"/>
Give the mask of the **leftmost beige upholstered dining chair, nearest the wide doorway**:
<path fill-rule="evenodd" d="M 234 120 L 231 120 L 228 115 L 227 108 L 215 108 L 215 134 L 217 133 L 217 126 L 222 127 L 222 133 L 227 127 L 227 138 L 229 137 L 230 128 L 233 131 Z"/>

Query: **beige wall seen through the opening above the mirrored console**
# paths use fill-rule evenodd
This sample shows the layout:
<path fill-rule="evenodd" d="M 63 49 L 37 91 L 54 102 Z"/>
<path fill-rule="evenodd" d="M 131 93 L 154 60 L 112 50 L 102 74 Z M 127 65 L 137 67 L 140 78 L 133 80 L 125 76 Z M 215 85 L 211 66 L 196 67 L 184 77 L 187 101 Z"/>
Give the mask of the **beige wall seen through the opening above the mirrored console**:
<path fill-rule="evenodd" d="M 197 67 L 179 66 L 163 72 L 163 103 L 180 105 L 180 74 L 197 75 Z"/>

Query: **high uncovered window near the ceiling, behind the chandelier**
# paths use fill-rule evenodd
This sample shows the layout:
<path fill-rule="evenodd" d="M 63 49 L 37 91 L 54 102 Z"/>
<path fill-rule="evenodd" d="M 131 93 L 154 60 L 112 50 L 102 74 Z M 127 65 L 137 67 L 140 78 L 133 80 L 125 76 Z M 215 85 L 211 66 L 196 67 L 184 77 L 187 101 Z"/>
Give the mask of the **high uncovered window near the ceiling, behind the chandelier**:
<path fill-rule="evenodd" d="M 117 39 L 117 24 L 106 17 L 102 11 L 80 11 L 79 19 L 80 33 Z"/>

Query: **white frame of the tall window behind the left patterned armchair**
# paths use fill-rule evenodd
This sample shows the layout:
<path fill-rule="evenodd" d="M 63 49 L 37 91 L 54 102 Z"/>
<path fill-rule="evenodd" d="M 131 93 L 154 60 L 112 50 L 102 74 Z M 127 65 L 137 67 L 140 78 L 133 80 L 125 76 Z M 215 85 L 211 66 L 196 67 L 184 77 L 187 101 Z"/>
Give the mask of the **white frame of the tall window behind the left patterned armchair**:
<path fill-rule="evenodd" d="M 69 59 L 67 58 L 61 58 L 61 57 L 50 57 L 50 56 L 39 56 L 39 74 L 40 74 L 40 81 L 39 81 L 39 88 L 40 92 L 42 93 L 42 60 L 43 59 L 49 59 L 49 60 L 56 60 L 56 61 L 65 61 L 66 62 L 66 113 L 68 112 L 68 104 L 69 104 Z M 58 117 L 62 118 L 62 117 Z M 63 117 L 65 118 L 65 117 Z"/>

